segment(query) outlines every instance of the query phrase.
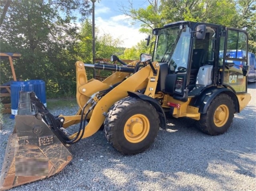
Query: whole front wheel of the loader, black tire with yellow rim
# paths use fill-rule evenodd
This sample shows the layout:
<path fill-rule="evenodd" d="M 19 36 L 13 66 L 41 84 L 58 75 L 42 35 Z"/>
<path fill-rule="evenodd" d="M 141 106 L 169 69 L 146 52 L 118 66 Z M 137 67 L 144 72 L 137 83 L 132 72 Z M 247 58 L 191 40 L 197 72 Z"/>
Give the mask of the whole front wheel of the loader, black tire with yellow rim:
<path fill-rule="evenodd" d="M 127 97 L 116 102 L 104 122 L 105 136 L 123 154 L 143 152 L 154 142 L 159 117 L 149 102 Z"/>

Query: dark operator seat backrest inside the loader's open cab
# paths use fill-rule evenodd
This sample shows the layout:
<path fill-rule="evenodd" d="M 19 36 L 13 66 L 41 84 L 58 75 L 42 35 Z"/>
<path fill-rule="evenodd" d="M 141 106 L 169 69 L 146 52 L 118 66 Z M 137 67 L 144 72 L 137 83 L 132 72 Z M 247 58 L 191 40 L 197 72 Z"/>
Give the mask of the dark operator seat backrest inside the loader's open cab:
<path fill-rule="evenodd" d="M 196 84 L 198 70 L 206 62 L 206 51 L 204 49 L 193 49 L 189 85 Z"/>

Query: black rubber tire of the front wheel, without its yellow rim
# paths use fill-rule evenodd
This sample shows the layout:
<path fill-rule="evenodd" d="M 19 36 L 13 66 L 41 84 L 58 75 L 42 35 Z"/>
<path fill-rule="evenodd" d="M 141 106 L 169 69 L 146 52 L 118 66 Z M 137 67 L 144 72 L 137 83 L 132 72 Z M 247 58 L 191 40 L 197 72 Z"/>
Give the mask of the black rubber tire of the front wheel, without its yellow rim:
<path fill-rule="evenodd" d="M 118 120 L 110 121 L 111 129 L 108 126 L 108 120 L 105 122 L 105 133 L 111 134 L 111 140 L 109 142 L 111 145 L 124 154 L 137 154 L 143 152 L 154 142 L 157 132 L 159 130 L 159 118 L 155 108 L 149 104 L 149 102 L 143 101 L 139 98 L 129 98 L 130 104 L 122 107 L 122 103 L 117 103 L 115 106 L 116 111 L 111 115 L 118 118 Z M 118 108 L 122 108 L 118 111 Z M 144 140 L 138 143 L 129 142 L 124 135 L 124 127 L 127 120 L 135 115 L 143 114 L 149 120 L 150 128 Z M 108 132 L 110 131 L 110 132 Z M 107 136 L 106 136 L 107 137 Z"/>

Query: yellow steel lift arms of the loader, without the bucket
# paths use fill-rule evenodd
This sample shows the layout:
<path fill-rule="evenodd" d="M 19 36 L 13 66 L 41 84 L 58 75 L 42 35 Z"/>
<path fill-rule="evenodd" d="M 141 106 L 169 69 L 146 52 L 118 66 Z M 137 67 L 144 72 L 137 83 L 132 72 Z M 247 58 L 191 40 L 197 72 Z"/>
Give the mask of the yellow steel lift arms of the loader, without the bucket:
<path fill-rule="evenodd" d="M 134 61 L 130 63 L 130 65 L 135 65 L 138 61 Z M 152 63 L 152 65 L 157 69 L 158 63 Z M 90 99 L 91 95 L 100 92 L 109 90 L 109 88 L 113 87 L 114 84 L 119 83 L 116 87 L 113 87 L 106 95 L 100 97 L 99 94 L 96 94 L 93 98 L 93 102 L 97 102 L 95 104 L 95 108 L 89 114 L 90 121 L 85 128 L 85 133 L 82 138 L 87 138 L 93 134 L 95 134 L 105 120 L 105 114 L 107 114 L 109 108 L 118 100 L 125 98 L 128 96 L 128 92 L 137 92 L 141 89 L 146 89 L 144 95 L 153 97 L 155 94 L 155 88 L 157 85 L 157 75 L 155 76 L 154 72 L 151 69 L 150 65 L 142 68 L 135 74 L 131 75 L 129 78 L 125 79 L 129 73 L 116 72 L 104 81 L 100 82 L 98 80 L 91 80 L 90 83 L 87 82 L 85 67 L 82 62 L 76 63 L 77 67 L 77 103 L 80 108 L 86 104 L 86 102 Z M 159 72 L 159 70 L 157 71 Z M 154 81 L 150 81 L 148 79 L 153 78 Z M 115 79 L 115 81 L 113 81 Z M 86 102 L 85 102 L 86 101 Z M 87 107 L 85 107 L 85 113 L 92 106 L 92 103 L 89 103 Z M 77 116 L 62 116 L 65 119 L 63 124 L 64 128 L 68 126 L 66 124 L 75 124 L 80 122 L 77 120 Z M 66 120 L 67 118 L 67 120 Z M 95 120 L 97 119 L 97 120 Z M 71 122 L 72 121 L 72 122 Z M 74 138 L 77 136 L 77 133 L 73 134 L 70 138 Z"/>

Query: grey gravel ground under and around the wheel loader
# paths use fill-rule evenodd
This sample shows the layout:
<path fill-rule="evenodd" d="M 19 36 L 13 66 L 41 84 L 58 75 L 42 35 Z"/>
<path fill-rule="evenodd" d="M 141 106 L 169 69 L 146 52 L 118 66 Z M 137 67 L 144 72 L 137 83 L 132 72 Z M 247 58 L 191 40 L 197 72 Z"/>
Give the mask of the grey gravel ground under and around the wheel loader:
<path fill-rule="evenodd" d="M 188 118 L 169 119 L 145 152 L 124 156 L 103 131 L 71 146 L 73 161 L 60 173 L 11 190 L 256 190 L 256 85 L 249 105 L 235 114 L 229 130 L 208 136 Z M 75 114 L 77 107 L 53 114 Z M 4 115 L 0 130 L 0 166 L 14 120 Z"/>

